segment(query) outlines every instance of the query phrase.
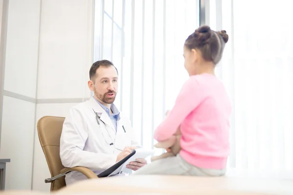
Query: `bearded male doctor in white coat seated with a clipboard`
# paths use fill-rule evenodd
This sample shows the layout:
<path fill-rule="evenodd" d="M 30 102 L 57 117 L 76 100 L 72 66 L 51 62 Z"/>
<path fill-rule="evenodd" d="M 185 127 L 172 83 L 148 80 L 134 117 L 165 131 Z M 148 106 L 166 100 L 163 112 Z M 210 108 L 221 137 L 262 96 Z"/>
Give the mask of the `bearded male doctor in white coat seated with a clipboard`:
<path fill-rule="evenodd" d="M 60 139 L 64 167 L 83 166 L 99 174 L 139 146 L 128 118 L 113 104 L 118 90 L 118 72 L 112 62 L 100 60 L 90 68 L 88 87 L 94 96 L 69 111 Z M 137 170 L 146 164 L 136 159 L 126 167 Z M 65 176 L 66 185 L 86 177 L 78 172 Z"/>

